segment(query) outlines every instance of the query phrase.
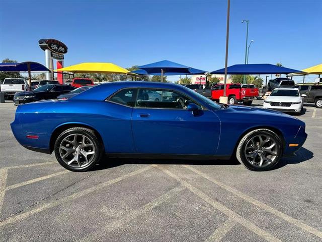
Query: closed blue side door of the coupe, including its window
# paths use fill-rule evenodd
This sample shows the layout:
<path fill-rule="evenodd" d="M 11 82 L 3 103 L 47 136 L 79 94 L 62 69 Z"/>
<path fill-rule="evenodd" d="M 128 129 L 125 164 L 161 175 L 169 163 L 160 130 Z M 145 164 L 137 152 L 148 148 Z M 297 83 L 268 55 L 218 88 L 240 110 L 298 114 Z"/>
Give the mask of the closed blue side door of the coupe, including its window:
<path fill-rule="evenodd" d="M 138 90 L 132 112 L 132 133 L 137 153 L 214 155 L 218 146 L 220 121 L 216 114 L 185 94 L 164 89 L 162 100 L 147 100 Z M 168 98 L 164 98 L 168 97 Z M 200 106 L 198 114 L 188 111 L 191 102 Z"/>

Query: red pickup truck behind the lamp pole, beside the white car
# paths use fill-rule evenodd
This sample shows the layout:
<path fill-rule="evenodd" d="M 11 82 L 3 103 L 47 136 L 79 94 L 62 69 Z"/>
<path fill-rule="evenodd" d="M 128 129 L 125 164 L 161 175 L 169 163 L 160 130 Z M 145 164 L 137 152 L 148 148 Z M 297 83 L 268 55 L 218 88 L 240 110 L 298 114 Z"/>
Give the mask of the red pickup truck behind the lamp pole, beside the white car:
<path fill-rule="evenodd" d="M 212 100 L 219 100 L 223 96 L 223 84 L 215 85 L 211 91 Z M 226 96 L 228 97 L 228 104 L 236 104 L 243 102 L 244 105 L 251 105 L 253 100 L 259 96 L 258 88 L 252 84 L 226 84 Z"/>

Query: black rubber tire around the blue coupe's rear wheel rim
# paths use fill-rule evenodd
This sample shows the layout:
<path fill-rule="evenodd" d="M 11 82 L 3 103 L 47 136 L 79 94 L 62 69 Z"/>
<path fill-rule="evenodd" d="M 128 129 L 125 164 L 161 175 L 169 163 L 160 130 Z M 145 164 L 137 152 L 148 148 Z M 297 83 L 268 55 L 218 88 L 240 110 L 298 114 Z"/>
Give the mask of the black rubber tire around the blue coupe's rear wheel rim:
<path fill-rule="evenodd" d="M 90 146 L 93 149 L 92 152 L 94 152 L 94 154 L 93 154 L 93 156 L 92 155 L 90 156 L 90 162 L 86 163 L 84 161 L 84 166 L 75 167 L 72 165 L 74 162 L 71 163 L 71 165 L 68 165 L 62 158 L 61 148 L 60 148 L 61 145 L 63 144 L 62 142 L 65 141 L 65 138 L 68 139 L 68 137 L 71 137 L 72 135 L 74 135 L 74 137 L 78 137 L 78 140 L 79 140 L 79 137 L 83 138 L 85 136 L 87 139 L 87 142 L 91 144 Z M 75 138 L 75 139 L 76 139 L 76 143 L 77 143 L 77 138 Z M 72 145 L 70 145 L 70 147 L 71 146 Z M 78 148 L 78 150 L 79 150 L 79 148 Z M 85 150 L 85 148 L 84 148 L 84 150 Z M 63 131 L 55 141 L 54 151 L 55 151 L 56 159 L 61 166 L 63 166 L 64 168 L 66 168 L 68 170 L 77 171 L 77 172 L 90 170 L 102 158 L 102 155 L 104 154 L 104 149 L 103 149 L 103 145 L 102 145 L 100 138 L 95 134 L 95 132 L 93 130 L 90 130 L 87 128 L 82 128 L 82 127 L 70 128 L 70 129 Z M 76 153 L 76 150 L 74 149 L 74 151 L 75 152 L 70 153 L 70 156 L 74 156 L 74 154 Z M 88 151 L 91 151 L 91 150 L 88 150 Z M 81 159 L 82 159 L 83 153 L 81 154 L 79 152 L 82 152 L 82 151 L 78 151 L 78 154 L 80 157 L 79 162 L 81 162 L 81 164 L 82 164 Z M 83 160 L 84 159 L 85 158 L 83 157 Z M 86 158 L 86 161 L 87 160 L 88 160 L 88 158 Z M 78 161 L 76 163 L 78 163 Z"/>

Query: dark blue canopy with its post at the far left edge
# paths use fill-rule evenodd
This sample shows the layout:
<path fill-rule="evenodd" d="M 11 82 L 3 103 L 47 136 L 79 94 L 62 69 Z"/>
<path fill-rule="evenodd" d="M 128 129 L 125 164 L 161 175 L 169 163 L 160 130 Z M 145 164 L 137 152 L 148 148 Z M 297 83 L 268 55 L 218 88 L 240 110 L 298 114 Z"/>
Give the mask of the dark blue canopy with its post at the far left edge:
<path fill-rule="evenodd" d="M 44 65 L 37 62 L 0 63 L 0 72 L 28 72 L 31 86 L 31 72 L 50 72 Z"/>

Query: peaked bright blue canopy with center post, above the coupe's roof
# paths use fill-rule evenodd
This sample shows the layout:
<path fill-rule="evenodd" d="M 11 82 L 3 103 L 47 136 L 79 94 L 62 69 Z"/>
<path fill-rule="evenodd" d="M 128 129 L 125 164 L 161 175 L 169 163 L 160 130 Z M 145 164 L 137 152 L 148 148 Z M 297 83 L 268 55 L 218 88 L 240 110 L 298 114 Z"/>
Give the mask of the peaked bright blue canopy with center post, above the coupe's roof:
<path fill-rule="evenodd" d="M 160 62 L 155 62 L 151 64 L 147 64 L 144 66 L 139 66 L 139 69 L 143 70 L 146 72 L 146 74 L 140 74 L 144 73 L 140 70 L 138 70 L 140 73 L 134 73 L 139 74 L 139 75 L 160 75 L 161 76 L 161 82 L 163 82 L 163 76 L 164 74 L 169 75 L 191 75 L 191 74 L 204 74 L 205 72 L 202 70 L 194 69 L 191 67 L 187 67 L 175 62 L 171 61 L 160 61 Z M 133 72 L 132 72 L 133 73 Z"/>

